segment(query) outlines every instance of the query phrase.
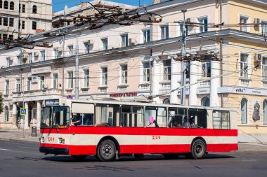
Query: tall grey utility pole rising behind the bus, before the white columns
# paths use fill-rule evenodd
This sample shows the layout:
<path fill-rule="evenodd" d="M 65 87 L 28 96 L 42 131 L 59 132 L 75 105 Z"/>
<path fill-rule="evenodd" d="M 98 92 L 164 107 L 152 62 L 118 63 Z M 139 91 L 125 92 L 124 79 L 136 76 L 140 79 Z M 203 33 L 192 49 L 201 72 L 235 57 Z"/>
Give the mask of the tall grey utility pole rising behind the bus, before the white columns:
<path fill-rule="evenodd" d="M 186 80 L 186 62 L 184 62 L 186 55 L 186 28 L 185 28 L 185 13 L 186 9 L 182 10 L 183 13 L 183 36 L 182 36 L 182 48 L 181 48 L 181 105 L 185 105 L 185 80 Z"/>

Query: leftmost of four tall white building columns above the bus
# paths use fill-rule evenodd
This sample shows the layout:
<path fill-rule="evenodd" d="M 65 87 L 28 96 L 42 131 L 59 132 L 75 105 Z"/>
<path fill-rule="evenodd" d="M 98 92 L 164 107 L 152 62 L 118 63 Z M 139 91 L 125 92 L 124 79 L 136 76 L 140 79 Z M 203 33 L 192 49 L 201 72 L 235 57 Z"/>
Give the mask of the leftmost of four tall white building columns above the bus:
<path fill-rule="evenodd" d="M 159 57 L 155 58 L 153 61 L 153 90 L 152 95 L 159 94 Z M 159 103 L 159 97 L 153 99 L 156 103 Z"/>

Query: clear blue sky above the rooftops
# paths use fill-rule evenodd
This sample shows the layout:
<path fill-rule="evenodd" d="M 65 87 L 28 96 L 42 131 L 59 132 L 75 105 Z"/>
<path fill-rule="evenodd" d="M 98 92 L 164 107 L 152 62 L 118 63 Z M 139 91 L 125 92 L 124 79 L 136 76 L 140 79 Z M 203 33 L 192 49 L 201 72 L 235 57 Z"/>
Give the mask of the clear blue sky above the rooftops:
<path fill-rule="evenodd" d="M 86 1 L 86 0 L 52 0 L 53 11 L 56 12 L 59 10 L 63 10 L 65 5 L 67 5 L 69 8 L 76 6 L 80 4 L 82 1 Z M 139 6 L 139 0 L 108 0 L 108 1 L 113 1 L 117 3 L 126 3 L 129 5 L 133 5 L 133 6 Z M 152 3 L 152 0 L 140 0 L 141 6 L 148 5 L 151 3 Z"/>

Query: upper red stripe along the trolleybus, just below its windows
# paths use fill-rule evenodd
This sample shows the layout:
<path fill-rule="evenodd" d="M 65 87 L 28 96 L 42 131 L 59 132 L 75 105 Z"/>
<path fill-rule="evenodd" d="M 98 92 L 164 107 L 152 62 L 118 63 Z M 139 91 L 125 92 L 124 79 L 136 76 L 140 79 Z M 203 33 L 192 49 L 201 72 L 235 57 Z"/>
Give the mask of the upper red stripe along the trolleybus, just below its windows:
<path fill-rule="evenodd" d="M 162 136 L 237 136 L 237 129 L 180 129 L 136 127 L 70 127 L 70 129 L 41 129 L 46 134 L 114 134 Z"/>

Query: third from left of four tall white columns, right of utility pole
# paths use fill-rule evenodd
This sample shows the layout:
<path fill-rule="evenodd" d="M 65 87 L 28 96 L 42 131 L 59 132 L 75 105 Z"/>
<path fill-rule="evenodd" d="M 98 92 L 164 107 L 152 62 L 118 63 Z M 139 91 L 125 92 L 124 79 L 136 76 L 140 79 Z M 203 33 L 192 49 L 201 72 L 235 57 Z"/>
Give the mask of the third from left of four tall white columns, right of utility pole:
<path fill-rule="evenodd" d="M 189 106 L 197 106 L 197 76 L 198 62 L 190 62 L 190 87 L 189 87 Z M 194 84 L 194 85 L 191 85 Z"/>

